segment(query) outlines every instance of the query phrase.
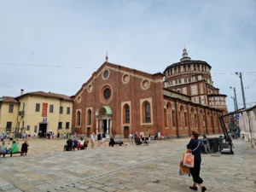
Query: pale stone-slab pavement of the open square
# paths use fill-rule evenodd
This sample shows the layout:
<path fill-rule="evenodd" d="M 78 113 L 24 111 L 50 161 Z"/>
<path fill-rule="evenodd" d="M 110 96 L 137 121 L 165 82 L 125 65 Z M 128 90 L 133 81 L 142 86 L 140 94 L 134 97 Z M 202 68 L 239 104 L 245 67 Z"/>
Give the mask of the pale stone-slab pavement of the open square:
<path fill-rule="evenodd" d="M 30 142 L 27 156 L 0 158 L 0 189 L 189 192 L 192 177 L 178 175 L 178 164 L 188 142 L 189 138 L 185 138 L 148 146 L 63 152 L 63 140 L 35 140 Z M 235 155 L 202 154 L 201 177 L 207 191 L 256 191 L 256 150 L 241 140 L 234 143 Z M 44 153 L 40 154 L 40 150 Z"/>

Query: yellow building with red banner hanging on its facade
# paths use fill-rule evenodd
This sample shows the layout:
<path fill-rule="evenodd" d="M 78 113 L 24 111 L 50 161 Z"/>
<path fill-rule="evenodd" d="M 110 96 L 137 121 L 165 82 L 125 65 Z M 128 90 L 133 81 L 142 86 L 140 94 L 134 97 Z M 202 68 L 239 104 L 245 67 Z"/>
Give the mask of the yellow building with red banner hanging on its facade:
<path fill-rule="evenodd" d="M 35 91 L 15 98 L 20 103 L 17 129 L 20 132 L 71 132 L 73 100 L 70 96 Z"/>

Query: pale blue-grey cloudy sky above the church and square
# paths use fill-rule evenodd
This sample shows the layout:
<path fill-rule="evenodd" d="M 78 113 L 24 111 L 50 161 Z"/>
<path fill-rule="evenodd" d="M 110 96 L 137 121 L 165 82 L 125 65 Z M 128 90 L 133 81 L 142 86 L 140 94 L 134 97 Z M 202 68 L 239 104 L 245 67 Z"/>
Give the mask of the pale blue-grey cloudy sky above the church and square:
<path fill-rule="evenodd" d="M 0 0 L 0 96 L 19 96 L 21 88 L 74 95 L 107 50 L 113 63 L 163 72 L 179 61 L 183 44 L 192 59 L 212 66 L 233 110 L 230 86 L 241 104 L 240 79 L 216 73 L 252 72 L 244 86 L 256 81 L 256 1 Z M 246 89 L 247 102 L 255 94 L 256 82 Z"/>

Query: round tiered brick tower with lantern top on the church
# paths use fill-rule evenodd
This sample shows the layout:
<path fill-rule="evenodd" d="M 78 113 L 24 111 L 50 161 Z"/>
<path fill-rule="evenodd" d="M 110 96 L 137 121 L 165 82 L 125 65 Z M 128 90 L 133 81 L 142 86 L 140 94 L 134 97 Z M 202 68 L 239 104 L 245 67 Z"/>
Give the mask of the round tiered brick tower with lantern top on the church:
<path fill-rule="evenodd" d="M 180 61 L 166 67 L 164 87 L 191 96 L 192 102 L 226 108 L 226 96 L 219 94 L 219 89 L 213 86 L 211 69 L 206 61 L 191 60 L 184 48 Z M 212 102 L 212 96 L 218 102 Z"/>

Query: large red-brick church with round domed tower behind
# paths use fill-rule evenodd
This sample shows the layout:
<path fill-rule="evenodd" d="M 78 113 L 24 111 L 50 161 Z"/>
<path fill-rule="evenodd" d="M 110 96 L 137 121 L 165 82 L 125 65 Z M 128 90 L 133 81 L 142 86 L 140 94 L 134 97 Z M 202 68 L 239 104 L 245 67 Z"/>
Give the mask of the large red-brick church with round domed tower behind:
<path fill-rule="evenodd" d="M 164 73 L 144 73 L 106 61 L 73 100 L 73 131 L 89 136 L 106 131 L 115 137 L 156 131 L 166 137 L 221 132 L 225 95 L 213 86 L 211 66 L 191 60 L 187 50 Z"/>

